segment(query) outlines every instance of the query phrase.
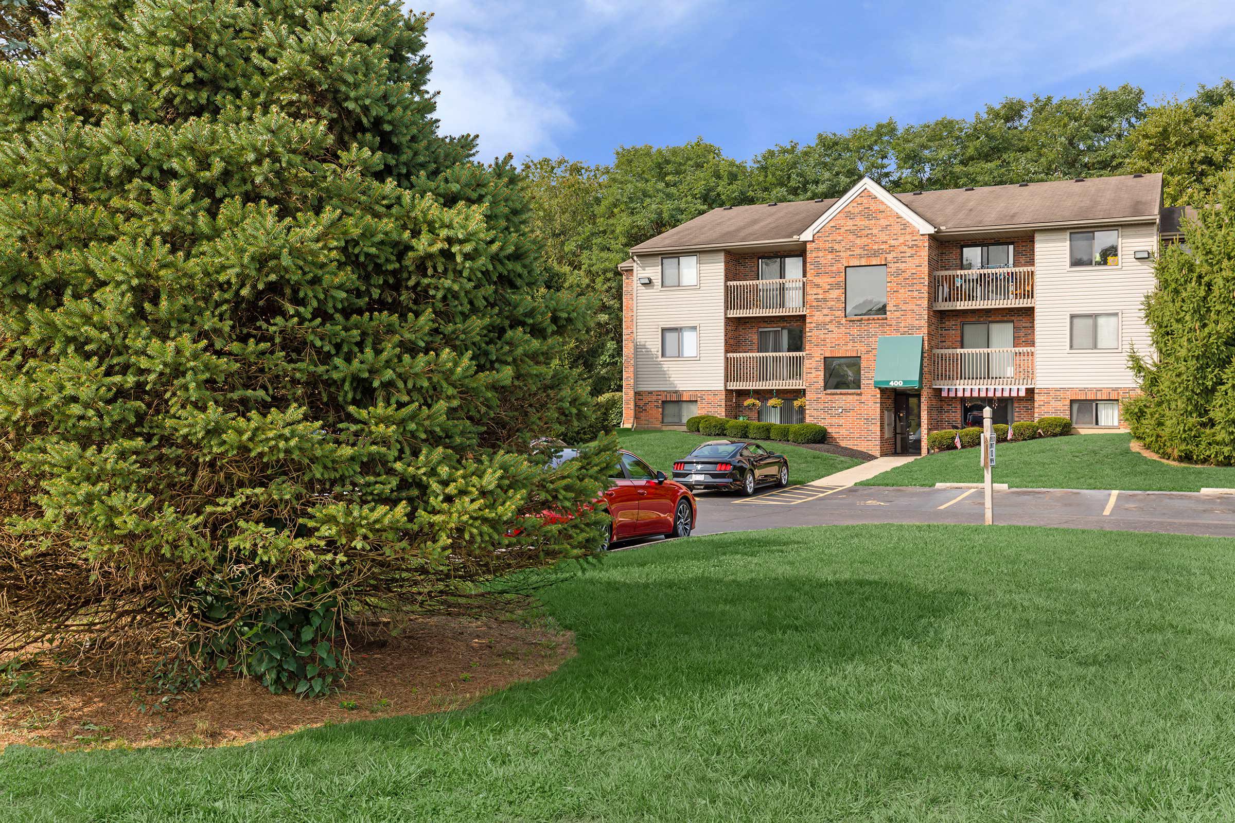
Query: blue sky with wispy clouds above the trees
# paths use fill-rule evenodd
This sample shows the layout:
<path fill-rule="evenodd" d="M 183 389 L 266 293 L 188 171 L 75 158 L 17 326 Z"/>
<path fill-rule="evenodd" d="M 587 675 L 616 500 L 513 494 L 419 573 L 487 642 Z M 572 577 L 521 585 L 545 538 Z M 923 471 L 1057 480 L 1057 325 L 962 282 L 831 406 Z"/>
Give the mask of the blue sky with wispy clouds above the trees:
<path fill-rule="evenodd" d="M 1235 77 L 1233 0 L 436 0 L 429 10 L 443 131 L 479 133 L 482 159 L 604 163 L 620 144 L 697 136 L 746 159 L 888 117 L 969 117 L 1005 96 L 1132 83 L 1156 99 Z"/>

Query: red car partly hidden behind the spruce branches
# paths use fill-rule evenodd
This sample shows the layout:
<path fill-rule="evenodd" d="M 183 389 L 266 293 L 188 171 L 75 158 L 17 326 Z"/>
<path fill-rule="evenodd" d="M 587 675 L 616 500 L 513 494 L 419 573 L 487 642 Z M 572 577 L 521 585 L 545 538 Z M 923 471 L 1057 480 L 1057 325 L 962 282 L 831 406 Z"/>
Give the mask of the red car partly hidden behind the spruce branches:
<path fill-rule="evenodd" d="M 576 457 L 574 449 L 562 449 L 551 465 L 561 465 Z M 610 478 L 611 484 L 595 505 L 609 512 L 610 524 L 600 538 L 600 550 L 610 543 L 632 540 L 640 537 L 690 537 L 694 529 L 694 495 L 679 482 L 666 479 L 663 471 L 656 471 L 635 454 L 619 449 L 618 476 Z M 562 517 L 553 512 L 542 512 L 542 518 Z"/>

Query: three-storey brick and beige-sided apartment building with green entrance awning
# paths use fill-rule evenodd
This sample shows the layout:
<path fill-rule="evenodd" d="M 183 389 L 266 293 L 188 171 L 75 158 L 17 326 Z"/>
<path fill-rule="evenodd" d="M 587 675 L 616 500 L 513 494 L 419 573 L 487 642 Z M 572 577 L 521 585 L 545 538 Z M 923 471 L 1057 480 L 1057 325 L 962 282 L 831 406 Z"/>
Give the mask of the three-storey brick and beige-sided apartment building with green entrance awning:
<path fill-rule="evenodd" d="M 1161 194 L 1160 174 L 903 194 L 863 179 L 715 209 L 621 267 L 625 424 L 813 422 L 881 455 L 983 405 L 1120 428 L 1153 258 L 1178 232 Z"/>

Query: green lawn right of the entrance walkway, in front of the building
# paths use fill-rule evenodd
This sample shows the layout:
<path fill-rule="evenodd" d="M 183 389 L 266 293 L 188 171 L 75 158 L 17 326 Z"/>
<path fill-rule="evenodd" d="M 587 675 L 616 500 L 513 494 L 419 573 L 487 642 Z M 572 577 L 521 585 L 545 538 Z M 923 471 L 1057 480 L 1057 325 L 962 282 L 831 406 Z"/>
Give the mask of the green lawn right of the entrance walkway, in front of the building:
<path fill-rule="evenodd" d="M 1073 434 L 995 447 L 994 481 L 1013 489 L 1199 491 L 1235 486 L 1235 468 L 1173 466 L 1128 448 L 1131 434 Z M 979 482 L 977 449 L 937 452 L 889 469 L 861 486 Z"/>

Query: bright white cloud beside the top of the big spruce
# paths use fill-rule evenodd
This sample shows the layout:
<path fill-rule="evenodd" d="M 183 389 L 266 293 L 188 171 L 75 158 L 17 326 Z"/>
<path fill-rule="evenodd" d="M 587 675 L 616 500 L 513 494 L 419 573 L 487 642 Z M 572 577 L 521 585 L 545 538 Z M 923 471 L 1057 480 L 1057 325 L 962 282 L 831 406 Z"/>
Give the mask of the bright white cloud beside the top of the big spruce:
<path fill-rule="evenodd" d="M 718 0 L 437 0 L 430 89 L 447 134 L 480 136 L 480 159 L 553 154 L 576 123 L 569 86 L 614 67 Z"/>

